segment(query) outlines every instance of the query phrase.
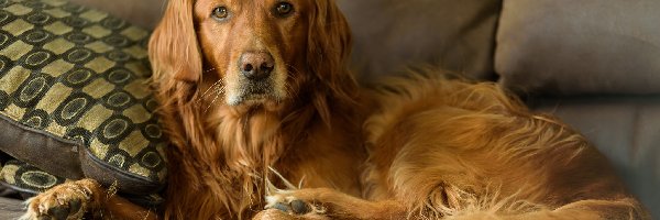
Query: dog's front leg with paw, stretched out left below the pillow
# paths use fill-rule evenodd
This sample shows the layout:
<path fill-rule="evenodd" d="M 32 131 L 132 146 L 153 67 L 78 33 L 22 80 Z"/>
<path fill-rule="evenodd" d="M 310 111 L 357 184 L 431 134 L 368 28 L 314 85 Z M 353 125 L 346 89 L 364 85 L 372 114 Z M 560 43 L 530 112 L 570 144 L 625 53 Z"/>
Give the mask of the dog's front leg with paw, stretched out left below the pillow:
<path fill-rule="evenodd" d="M 82 219 L 92 211 L 95 219 L 151 220 L 156 215 L 117 195 L 109 195 L 96 180 L 65 183 L 26 201 L 28 211 L 21 219 Z"/>

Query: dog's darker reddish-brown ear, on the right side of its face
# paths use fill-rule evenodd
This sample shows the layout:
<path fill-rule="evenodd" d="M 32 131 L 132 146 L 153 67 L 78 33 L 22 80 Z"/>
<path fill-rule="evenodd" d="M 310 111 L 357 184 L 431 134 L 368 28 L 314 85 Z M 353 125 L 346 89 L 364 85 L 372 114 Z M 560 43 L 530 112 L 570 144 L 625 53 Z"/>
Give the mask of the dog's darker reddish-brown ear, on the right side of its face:
<path fill-rule="evenodd" d="M 351 31 L 333 0 L 314 0 L 309 14 L 307 61 L 309 70 L 327 84 L 336 96 L 346 96 L 354 85 L 348 73 Z"/>

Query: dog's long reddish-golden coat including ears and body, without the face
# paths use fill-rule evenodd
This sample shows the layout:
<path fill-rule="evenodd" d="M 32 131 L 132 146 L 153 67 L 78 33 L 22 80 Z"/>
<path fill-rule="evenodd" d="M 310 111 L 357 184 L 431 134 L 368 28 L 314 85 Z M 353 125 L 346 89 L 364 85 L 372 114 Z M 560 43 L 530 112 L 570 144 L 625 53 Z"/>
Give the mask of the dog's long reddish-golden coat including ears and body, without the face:
<path fill-rule="evenodd" d="M 172 140 L 165 219 L 250 218 L 268 188 L 304 178 L 302 188 L 341 191 L 307 194 L 339 219 L 648 218 L 581 135 L 495 84 L 430 69 L 364 91 L 346 68 L 351 36 L 334 2 L 305 2 L 306 64 L 289 73 L 289 99 L 266 111 L 218 101 L 224 88 L 205 78 L 196 2 L 169 1 L 150 42 Z"/>

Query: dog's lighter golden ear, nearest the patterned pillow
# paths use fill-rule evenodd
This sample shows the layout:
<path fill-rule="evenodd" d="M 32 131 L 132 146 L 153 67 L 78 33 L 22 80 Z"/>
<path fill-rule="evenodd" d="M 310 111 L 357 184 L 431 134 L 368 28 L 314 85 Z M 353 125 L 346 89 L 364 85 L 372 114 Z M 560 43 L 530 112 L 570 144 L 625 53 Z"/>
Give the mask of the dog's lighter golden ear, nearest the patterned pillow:
<path fill-rule="evenodd" d="M 198 81 L 201 53 L 193 18 L 194 0 L 169 0 L 161 23 L 148 43 L 156 81 Z"/>

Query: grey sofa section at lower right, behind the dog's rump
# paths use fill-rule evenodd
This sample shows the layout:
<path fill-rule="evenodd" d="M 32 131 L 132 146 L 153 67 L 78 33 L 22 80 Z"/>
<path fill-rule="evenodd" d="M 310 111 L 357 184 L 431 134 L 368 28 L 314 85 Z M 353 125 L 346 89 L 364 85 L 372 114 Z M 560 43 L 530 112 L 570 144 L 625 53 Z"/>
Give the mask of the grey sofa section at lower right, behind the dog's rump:
<path fill-rule="evenodd" d="M 531 106 L 582 131 L 651 216 L 660 217 L 660 97 L 547 98 Z"/>

